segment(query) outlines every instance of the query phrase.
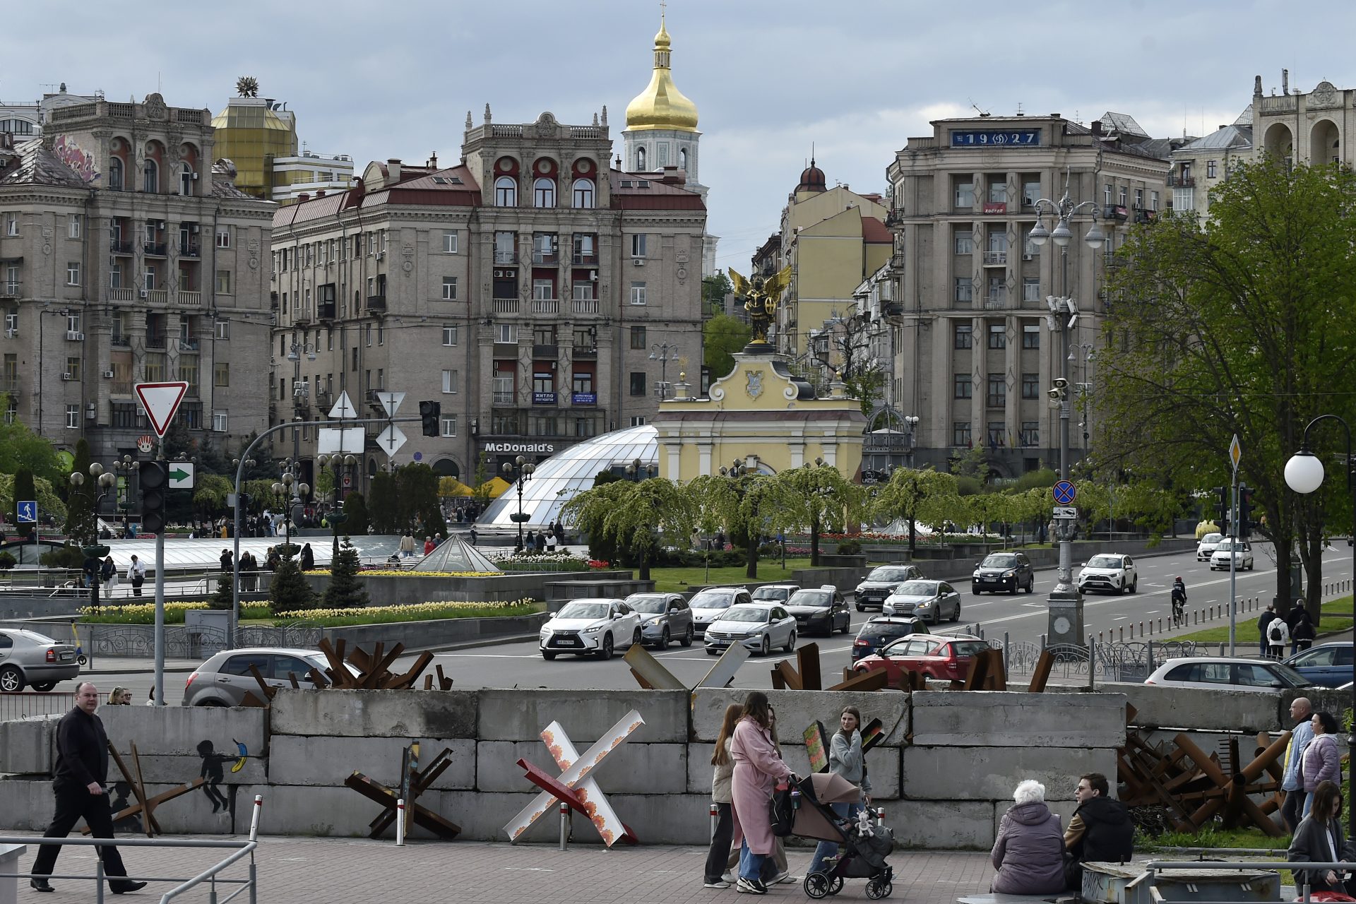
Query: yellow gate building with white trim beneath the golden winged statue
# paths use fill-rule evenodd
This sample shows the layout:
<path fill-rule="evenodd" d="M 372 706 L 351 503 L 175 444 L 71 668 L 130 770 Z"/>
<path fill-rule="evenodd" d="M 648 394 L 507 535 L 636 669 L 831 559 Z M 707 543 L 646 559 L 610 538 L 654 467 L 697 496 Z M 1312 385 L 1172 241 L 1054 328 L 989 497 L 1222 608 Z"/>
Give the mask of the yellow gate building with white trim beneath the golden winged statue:
<path fill-rule="evenodd" d="M 686 482 L 734 461 L 774 474 L 823 458 L 848 480 L 858 480 L 866 417 L 841 382 L 830 397 L 815 398 L 814 388 L 780 355 L 736 352 L 735 369 L 706 398 L 693 398 L 685 382 L 677 389 L 651 419 L 660 476 Z"/>

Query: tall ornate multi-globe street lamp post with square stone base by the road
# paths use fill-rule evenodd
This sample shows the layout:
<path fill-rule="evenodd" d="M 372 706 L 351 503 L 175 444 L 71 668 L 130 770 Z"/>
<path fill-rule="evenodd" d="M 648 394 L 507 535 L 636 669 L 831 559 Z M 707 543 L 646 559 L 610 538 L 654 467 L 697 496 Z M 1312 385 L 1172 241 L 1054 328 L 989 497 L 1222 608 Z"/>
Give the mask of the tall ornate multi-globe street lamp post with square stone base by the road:
<path fill-rule="evenodd" d="M 1059 248 L 1060 253 L 1060 281 L 1063 295 L 1055 298 L 1048 295 L 1045 304 L 1050 308 L 1050 316 L 1045 319 L 1050 329 L 1058 332 L 1060 336 L 1059 348 L 1059 377 L 1054 382 L 1054 388 L 1050 390 L 1051 405 L 1059 408 L 1059 478 L 1069 480 L 1069 422 L 1070 422 L 1070 408 L 1071 398 L 1069 393 L 1069 355 L 1070 355 L 1070 333 L 1078 325 L 1078 305 L 1074 300 L 1069 297 L 1069 241 L 1073 239 L 1073 232 L 1069 225 L 1074 217 L 1077 217 L 1085 209 L 1096 209 L 1096 203 L 1092 201 L 1085 201 L 1082 203 L 1074 203 L 1069 198 L 1069 175 L 1064 175 L 1064 192 L 1059 201 L 1050 201 L 1047 198 L 1040 198 L 1035 203 L 1036 207 L 1036 225 L 1032 228 L 1028 237 L 1037 248 L 1043 248 L 1050 240 L 1054 240 L 1055 245 Z M 1055 228 L 1045 229 L 1045 213 L 1051 217 L 1058 218 Z M 1106 237 L 1102 234 L 1101 229 L 1097 226 L 1096 215 L 1093 218 L 1093 225 L 1083 236 L 1083 243 L 1089 248 L 1101 248 Z M 1078 522 L 1073 519 L 1059 519 L 1055 522 L 1055 533 L 1059 537 L 1059 576 L 1055 583 L 1055 590 L 1050 594 L 1050 625 L 1048 625 L 1048 640 L 1050 642 L 1064 642 L 1064 644 L 1078 644 L 1083 642 L 1083 595 L 1074 585 L 1074 549 L 1073 539 L 1074 531 Z"/>

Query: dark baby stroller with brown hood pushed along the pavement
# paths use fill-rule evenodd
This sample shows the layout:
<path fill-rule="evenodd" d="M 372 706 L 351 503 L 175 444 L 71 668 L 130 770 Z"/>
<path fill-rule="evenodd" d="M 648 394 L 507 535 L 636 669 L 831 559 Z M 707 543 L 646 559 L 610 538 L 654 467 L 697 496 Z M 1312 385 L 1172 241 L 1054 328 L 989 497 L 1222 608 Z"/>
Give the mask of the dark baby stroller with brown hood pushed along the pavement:
<path fill-rule="evenodd" d="M 895 874 L 885 862 L 895 848 L 891 831 L 884 825 L 872 825 L 868 835 L 857 828 L 856 821 L 845 820 L 829 808 L 829 804 L 856 804 L 861 800 L 861 790 L 833 773 L 804 778 L 796 787 L 800 790 L 800 808 L 791 834 L 843 846 L 842 854 L 824 861 L 827 871 L 805 876 L 805 895 L 818 900 L 841 892 L 845 878 L 864 878 L 866 897 L 890 897 Z"/>

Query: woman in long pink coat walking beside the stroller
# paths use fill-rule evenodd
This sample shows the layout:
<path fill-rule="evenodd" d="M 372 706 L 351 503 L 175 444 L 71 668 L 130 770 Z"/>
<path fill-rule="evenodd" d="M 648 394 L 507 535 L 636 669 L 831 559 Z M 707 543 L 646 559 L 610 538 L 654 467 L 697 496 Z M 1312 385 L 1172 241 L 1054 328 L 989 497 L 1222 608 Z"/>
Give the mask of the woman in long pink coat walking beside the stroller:
<path fill-rule="evenodd" d="M 753 691 L 744 699 L 743 716 L 735 725 L 730 754 L 735 759 L 731 798 L 735 810 L 735 838 L 739 848 L 738 890 L 766 895 L 761 878 L 763 858 L 773 852 L 774 836 L 767 805 L 778 778 L 792 777 L 769 732 L 767 695 Z"/>

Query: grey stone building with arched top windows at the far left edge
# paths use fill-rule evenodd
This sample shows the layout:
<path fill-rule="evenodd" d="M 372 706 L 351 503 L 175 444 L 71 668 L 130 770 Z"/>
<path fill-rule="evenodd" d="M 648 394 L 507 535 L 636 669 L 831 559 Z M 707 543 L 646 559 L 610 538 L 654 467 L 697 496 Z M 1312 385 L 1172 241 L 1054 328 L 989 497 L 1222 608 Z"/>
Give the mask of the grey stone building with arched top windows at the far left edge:
<path fill-rule="evenodd" d="M 137 454 L 136 382 L 183 379 L 179 419 L 235 450 L 267 424 L 275 205 L 213 167 L 206 110 L 76 103 L 0 148 L 0 388 L 58 447 Z"/>

